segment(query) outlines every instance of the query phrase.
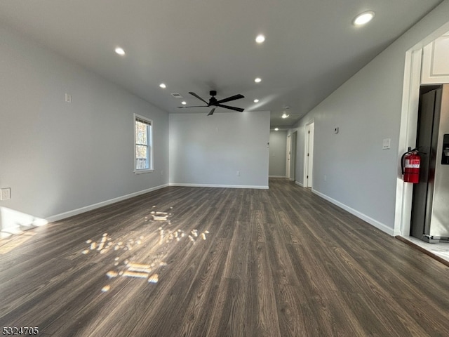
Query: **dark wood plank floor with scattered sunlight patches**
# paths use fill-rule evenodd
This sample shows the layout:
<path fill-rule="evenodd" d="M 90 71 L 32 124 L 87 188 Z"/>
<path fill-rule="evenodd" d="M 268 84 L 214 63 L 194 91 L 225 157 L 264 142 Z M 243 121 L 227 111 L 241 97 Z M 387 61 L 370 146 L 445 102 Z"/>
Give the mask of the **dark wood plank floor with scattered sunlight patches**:
<path fill-rule="evenodd" d="M 449 336 L 449 267 L 288 180 L 269 185 L 167 187 L 1 240 L 0 329 Z"/>

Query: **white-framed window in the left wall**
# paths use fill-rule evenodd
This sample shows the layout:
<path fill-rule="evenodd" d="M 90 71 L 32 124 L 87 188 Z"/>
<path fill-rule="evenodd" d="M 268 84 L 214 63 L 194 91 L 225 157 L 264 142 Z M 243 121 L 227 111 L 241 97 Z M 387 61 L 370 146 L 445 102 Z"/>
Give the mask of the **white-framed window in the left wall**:
<path fill-rule="evenodd" d="M 153 121 L 134 114 L 134 172 L 153 171 Z"/>

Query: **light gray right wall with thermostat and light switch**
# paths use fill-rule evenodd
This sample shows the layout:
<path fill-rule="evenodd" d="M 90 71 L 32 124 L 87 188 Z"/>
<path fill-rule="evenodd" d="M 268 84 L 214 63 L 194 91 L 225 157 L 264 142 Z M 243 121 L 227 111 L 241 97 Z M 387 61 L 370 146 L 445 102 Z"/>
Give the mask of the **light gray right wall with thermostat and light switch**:
<path fill-rule="evenodd" d="M 297 124 L 315 121 L 314 192 L 394 233 L 399 129 L 406 52 L 449 18 L 444 1 Z M 335 134 L 338 126 L 340 132 Z M 382 140 L 391 138 L 391 149 Z M 304 132 L 298 133 L 298 143 Z M 410 145 L 413 146 L 413 145 Z M 302 150 L 298 147 L 298 150 Z M 302 180 L 304 156 L 298 156 Z M 327 176 L 327 180 L 324 180 Z M 302 181 L 300 181 L 302 183 Z"/>

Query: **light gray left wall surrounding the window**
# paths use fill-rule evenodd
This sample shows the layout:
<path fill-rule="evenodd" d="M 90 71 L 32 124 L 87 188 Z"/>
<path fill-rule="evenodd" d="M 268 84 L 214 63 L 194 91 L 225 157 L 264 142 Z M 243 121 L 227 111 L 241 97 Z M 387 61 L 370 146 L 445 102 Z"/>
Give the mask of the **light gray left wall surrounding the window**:
<path fill-rule="evenodd" d="M 1 207 L 48 218 L 168 184 L 168 114 L 4 27 L 0 46 Z M 154 121 L 153 173 L 133 173 L 133 113 Z"/>

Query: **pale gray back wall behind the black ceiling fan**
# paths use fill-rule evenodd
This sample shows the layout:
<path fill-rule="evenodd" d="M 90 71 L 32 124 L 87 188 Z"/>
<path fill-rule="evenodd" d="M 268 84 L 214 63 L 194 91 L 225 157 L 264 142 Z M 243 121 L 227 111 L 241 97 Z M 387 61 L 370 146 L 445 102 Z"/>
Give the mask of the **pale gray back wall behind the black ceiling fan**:
<path fill-rule="evenodd" d="M 268 142 L 267 111 L 170 114 L 170 184 L 267 188 Z"/>

